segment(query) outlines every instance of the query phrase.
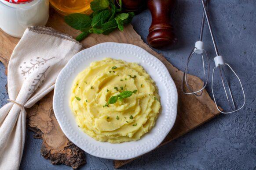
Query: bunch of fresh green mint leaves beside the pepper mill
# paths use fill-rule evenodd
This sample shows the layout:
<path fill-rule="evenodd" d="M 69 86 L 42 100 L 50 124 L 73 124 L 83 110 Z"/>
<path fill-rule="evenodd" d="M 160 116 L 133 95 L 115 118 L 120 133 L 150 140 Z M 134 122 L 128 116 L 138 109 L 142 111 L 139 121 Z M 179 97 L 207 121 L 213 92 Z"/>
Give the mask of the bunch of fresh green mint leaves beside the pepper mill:
<path fill-rule="evenodd" d="M 121 6 L 121 0 L 119 4 Z M 122 13 L 121 7 L 117 8 L 112 0 L 93 0 L 91 10 L 91 15 L 75 13 L 64 18 L 69 26 L 82 32 L 77 36 L 77 41 L 83 40 L 90 33 L 108 35 L 116 28 L 123 31 L 124 25 L 134 17 L 133 12 Z"/>

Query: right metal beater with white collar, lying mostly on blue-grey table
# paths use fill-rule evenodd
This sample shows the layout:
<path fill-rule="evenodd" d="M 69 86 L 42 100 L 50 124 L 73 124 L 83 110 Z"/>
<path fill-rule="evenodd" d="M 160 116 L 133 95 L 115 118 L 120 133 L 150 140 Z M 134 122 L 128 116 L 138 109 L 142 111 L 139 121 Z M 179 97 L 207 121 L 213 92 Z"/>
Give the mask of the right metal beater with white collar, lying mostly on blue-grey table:
<path fill-rule="evenodd" d="M 215 52 L 216 52 L 216 57 L 214 57 L 215 67 L 213 68 L 213 71 L 212 71 L 212 95 L 213 95 L 213 99 L 214 99 L 214 102 L 216 104 L 217 109 L 219 110 L 219 108 L 217 106 L 217 103 L 216 103 L 215 96 L 214 96 L 214 91 L 213 91 L 214 72 L 215 72 L 215 70 L 217 68 L 219 68 L 219 75 L 220 75 L 220 78 L 221 78 L 221 82 L 222 82 L 222 85 L 223 85 L 223 88 L 224 88 L 224 91 L 225 91 L 225 94 L 226 94 L 226 97 L 227 97 L 228 104 L 230 106 L 230 109 L 232 110 L 230 112 L 223 112 L 223 111 L 219 110 L 219 112 L 221 112 L 221 113 L 233 113 L 233 112 L 236 112 L 236 111 L 240 110 L 243 106 L 245 106 L 245 92 L 244 92 L 244 88 L 243 88 L 243 86 L 241 84 L 241 81 L 240 81 L 240 78 L 238 77 L 238 75 L 234 72 L 234 70 L 230 67 L 229 64 L 224 63 L 223 57 L 219 55 L 219 52 L 218 52 L 218 49 L 217 49 L 217 46 L 216 46 L 216 42 L 215 42 L 215 39 L 214 39 L 214 36 L 213 36 L 213 33 L 212 33 L 212 27 L 210 25 L 208 13 L 206 11 L 206 7 L 205 7 L 205 4 L 204 4 L 204 0 L 201 0 L 201 2 L 202 2 L 202 5 L 203 5 L 203 8 L 204 8 L 204 11 L 205 11 L 206 21 L 208 23 L 208 27 L 209 27 L 209 30 L 210 30 L 210 33 L 211 33 L 212 43 L 213 43 L 213 46 L 214 46 L 214 49 L 215 49 Z M 223 69 L 224 67 L 229 68 L 230 71 L 232 71 L 232 73 L 234 73 L 235 77 L 238 78 L 239 84 L 241 86 L 241 90 L 242 90 L 242 94 L 243 94 L 243 98 L 244 98 L 244 103 L 242 104 L 242 106 L 240 106 L 238 108 L 237 108 L 237 106 L 236 106 L 236 104 L 234 102 L 234 97 L 233 97 L 231 89 L 230 89 L 230 83 L 227 80 L 225 71 Z M 229 94 L 228 94 L 228 92 L 229 92 Z"/>

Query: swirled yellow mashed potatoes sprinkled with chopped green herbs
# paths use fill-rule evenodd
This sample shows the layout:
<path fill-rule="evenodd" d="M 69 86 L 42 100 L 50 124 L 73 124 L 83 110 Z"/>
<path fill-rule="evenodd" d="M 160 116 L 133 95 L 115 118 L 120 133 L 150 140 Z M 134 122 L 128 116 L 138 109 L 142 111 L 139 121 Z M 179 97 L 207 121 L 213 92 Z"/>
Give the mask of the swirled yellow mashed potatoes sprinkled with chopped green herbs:
<path fill-rule="evenodd" d="M 108 104 L 111 96 L 132 96 Z M 90 64 L 73 82 L 70 107 L 78 126 L 102 142 L 136 141 L 154 126 L 161 108 L 149 74 L 136 63 L 106 58 Z"/>

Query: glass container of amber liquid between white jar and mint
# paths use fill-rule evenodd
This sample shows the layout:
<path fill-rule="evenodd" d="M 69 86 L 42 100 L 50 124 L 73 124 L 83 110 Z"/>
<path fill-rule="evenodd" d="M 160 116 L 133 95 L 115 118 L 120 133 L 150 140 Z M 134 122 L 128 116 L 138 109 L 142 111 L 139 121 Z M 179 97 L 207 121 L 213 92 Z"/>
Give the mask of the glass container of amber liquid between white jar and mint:
<path fill-rule="evenodd" d="M 72 13 L 91 14 L 92 0 L 50 0 L 51 5 L 62 15 Z"/>

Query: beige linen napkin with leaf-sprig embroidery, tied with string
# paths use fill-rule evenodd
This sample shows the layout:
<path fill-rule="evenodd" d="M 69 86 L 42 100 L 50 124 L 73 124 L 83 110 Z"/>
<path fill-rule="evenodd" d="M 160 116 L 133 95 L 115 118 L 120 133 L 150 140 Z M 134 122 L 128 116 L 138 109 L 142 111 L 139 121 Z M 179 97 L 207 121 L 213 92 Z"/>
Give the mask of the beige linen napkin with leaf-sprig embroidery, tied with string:
<path fill-rule="evenodd" d="M 52 28 L 29 27 L 8 65 L 10 103 L 0 109 L 0 170 L 17 170 L 25 141 L 26 110 L 54 89 L 55 80 L 81 45 Z"/>

